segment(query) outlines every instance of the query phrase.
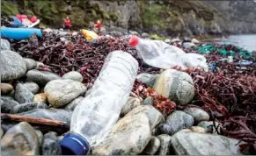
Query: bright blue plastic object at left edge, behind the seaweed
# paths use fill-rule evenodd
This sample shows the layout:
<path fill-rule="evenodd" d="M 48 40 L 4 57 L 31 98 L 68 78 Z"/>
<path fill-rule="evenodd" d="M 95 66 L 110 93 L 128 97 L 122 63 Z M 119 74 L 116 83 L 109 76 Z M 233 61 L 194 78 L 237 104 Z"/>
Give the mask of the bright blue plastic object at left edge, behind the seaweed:
<path fill-rule="evenodd" d="M 39 37 L 42 37 L 42 32 L 40 29 L 1 27 L 1 38 L 5 37 L 7 39 L 15 40 L 29 39 L 33 33 L 36 33 Z"/>

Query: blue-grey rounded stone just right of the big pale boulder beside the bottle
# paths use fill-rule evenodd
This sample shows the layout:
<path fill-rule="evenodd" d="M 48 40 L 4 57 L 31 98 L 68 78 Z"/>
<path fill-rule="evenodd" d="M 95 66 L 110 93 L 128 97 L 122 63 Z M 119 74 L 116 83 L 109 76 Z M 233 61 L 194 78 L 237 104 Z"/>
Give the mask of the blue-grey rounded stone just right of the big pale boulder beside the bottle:
<path fill-rule="evenodd" d="M 187 113 L 176 110 L 169 115 L 164 124 L 161 124 L 158 128 L 162 134 L 173 135 L 177 131 L 190 128 L 194 124 L 194 118 Z"/>

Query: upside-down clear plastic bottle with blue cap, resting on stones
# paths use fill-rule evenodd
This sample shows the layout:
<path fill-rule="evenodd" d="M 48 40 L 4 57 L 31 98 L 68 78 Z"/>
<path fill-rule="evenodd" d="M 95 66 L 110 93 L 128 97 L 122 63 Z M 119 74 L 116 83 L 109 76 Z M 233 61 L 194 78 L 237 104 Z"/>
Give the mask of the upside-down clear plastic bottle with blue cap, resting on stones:
<path fill-rule="evenodd" d="M 62 154 L 87 154 L 106 138 L 128 100 L 137 71 L 138 62 L 129 53 L 108 54 L 91 93 L 73 112 L 70 133 L 61 141 Z"/>

